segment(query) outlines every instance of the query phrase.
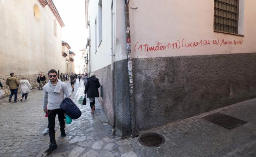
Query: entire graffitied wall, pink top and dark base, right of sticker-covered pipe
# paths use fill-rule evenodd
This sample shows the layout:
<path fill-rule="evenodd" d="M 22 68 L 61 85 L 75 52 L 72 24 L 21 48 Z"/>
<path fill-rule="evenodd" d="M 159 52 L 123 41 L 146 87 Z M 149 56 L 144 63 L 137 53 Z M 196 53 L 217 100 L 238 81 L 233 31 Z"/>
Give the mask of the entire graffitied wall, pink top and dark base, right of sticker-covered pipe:
<path fill-rule="evenodd" d="M 239 36 L 214 32 L 213 0 L 130 0 L 138 130 L 256 97 L 255 4 L 240 0 Z"/>

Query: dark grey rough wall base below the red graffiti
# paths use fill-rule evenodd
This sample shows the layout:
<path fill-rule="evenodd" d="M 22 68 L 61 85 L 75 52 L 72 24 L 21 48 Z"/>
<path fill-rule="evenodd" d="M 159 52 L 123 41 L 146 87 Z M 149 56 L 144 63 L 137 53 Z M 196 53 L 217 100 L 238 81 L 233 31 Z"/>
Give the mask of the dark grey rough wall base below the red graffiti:
<path fill-rule="evenodd" d="M 256 53 L 133 59 L 138 130 L 256 97 Z"/>

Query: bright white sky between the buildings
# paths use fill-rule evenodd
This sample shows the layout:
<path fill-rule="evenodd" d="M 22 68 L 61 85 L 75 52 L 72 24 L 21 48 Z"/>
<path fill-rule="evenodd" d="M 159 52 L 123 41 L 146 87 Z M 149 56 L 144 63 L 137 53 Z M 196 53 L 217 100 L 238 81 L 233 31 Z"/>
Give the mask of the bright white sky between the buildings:
<path fill-rule="evenodd" d="M 85 0 L 53 0 L 64 23 L 62 40 L 75 53 L 75 66 L 79 66 L 81 49 L 86 46 L 89 30 L 85 27 Z"/>

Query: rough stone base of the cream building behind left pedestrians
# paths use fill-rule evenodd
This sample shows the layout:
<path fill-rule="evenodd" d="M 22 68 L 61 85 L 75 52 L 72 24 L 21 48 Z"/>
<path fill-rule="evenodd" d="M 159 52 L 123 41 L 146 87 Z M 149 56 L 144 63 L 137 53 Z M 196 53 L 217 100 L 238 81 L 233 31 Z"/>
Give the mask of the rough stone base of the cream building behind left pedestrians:
<path fill-rule="evenodd" d="M 21 76 L 24 76 L 24 75 L 16 75 L 16 77 L 21 80 Z M 31 87 L 32 89 L 36 89 L 39 87 L 39 84 L 37 83 L 37 76 L 38 74 L 33 74 L 33 75 L 25 75 L 26 77 L 26 80 L 28 80 L 28 82 L 30 82 L 31 84 Z M 46 74 L 45 74 L 46 76 Z M 9 90 L 9 86 L 7 86 L 5 84 L 7 78 L 10 77 L 10 76 L 0 76 L 0 81 L 3 85 L 3 92 L 4 92 L 4 97 L 7 97 L 10 95 L 11 91 Z M 46 82 L 48 82 L 48 78 L 46 77 Z M 20 89 L 18 88 L 18 93 L 21 93 Z"/>

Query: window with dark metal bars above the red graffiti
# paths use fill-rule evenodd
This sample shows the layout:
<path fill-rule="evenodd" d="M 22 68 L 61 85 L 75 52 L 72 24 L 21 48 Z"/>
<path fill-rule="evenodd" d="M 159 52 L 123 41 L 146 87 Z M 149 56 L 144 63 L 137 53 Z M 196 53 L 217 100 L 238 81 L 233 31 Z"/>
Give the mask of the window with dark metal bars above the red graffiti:
<path fill-rule="evenodd" d="M 238 34 L 239 0 L 214 0 L 214 30 Z"/>

